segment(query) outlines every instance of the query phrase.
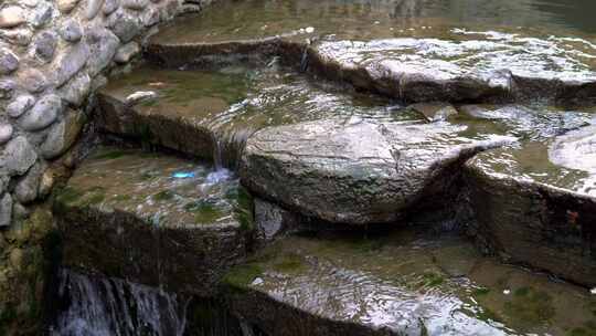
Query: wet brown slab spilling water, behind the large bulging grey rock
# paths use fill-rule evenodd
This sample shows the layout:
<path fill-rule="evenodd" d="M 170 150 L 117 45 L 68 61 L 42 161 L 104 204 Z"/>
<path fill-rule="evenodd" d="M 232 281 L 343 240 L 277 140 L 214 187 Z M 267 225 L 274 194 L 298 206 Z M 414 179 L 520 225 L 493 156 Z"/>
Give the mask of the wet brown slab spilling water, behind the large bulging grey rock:
<path fill-rule="evenodd" d="M 387 108 L 384 98 L 350 95 L 275 63 L 213 71 L 140 67 L 111 81 L 98 101 L 104 132 L 228 167 L 236 166 L 245 140 L 267 126 L 338 115 L 423 122 L 417 113 Z"/>

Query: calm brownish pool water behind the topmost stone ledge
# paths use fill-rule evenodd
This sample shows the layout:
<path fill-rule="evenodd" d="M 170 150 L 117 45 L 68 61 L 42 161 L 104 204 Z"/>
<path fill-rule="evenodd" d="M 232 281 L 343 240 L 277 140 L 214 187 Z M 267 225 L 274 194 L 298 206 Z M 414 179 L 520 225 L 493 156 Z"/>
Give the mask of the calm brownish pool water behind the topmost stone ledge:
<path fill-rule="evenodd" d="M 315 35 L 350 40 L 443 38 L 453 29 L 468 29 L 581 38 L 589 52 L 596 49 L 594 12 L 592 0 L 223 0 L 199 15 L 177 20 L 158 39 L 212 42 L 306 28 L 313 28 Z"/>

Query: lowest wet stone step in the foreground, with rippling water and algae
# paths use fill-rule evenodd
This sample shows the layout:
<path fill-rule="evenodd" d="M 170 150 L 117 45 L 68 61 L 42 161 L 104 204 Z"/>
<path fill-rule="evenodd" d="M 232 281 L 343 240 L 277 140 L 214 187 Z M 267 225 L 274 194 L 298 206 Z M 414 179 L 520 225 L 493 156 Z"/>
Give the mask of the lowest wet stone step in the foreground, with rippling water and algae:
<path fill-rule="evenodd" d="M 563 335 L 593 330 L 586 288 L 411 229 L 295 235 L 224 276 L 234 315 L 267 335 Z"/>

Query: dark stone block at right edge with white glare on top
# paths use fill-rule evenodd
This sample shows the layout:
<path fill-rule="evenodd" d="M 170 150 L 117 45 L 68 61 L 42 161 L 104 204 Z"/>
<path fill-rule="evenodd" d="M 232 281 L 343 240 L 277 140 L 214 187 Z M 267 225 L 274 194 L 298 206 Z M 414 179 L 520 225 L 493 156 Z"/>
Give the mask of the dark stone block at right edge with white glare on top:
<path fill-rule="evenodd" d="M 466 165 L 478 240 L 510 262 L 596 285 L 594 126 Z"/>

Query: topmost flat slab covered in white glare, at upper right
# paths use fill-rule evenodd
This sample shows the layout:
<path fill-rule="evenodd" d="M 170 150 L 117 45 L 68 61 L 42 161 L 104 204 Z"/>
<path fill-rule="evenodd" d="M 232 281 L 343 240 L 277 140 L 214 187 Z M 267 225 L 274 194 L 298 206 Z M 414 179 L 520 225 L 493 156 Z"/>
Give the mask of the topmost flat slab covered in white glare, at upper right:
<path fill-rule="evenodd" d="M 593 57 L 575 57 L 563 43 L 453 30 L 437 38 L 323 41 L 309 50 L 309 64 L 329 77 L 408 102 L 594 104 Z"/>

